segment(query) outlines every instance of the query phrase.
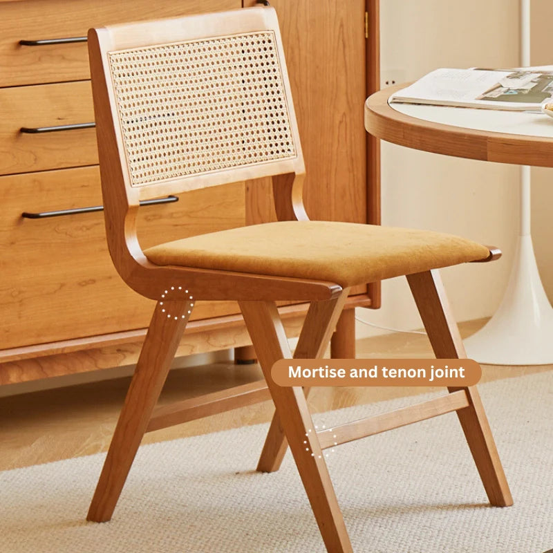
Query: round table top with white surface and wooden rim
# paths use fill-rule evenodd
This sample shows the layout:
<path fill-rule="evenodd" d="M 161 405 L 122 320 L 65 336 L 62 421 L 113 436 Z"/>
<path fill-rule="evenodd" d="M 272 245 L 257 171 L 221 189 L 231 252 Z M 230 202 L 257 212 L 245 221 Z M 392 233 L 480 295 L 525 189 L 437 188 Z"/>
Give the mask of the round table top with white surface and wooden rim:
<path fill-rule="evenodd" d="M 407 84 L 365 102 L 365 128 L 409 148 L 476 160 L 553 167 L 553 118 L 542 113 L 388 104 Z"/>

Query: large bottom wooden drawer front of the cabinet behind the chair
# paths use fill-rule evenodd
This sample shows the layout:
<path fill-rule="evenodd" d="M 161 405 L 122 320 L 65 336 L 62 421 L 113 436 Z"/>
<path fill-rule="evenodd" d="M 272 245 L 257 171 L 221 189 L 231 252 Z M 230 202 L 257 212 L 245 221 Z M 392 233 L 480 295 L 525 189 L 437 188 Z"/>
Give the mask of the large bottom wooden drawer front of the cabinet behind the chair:
<path fill-rule="evenodd" d="M 0 349 L 148 326 L 154 302 L 115 272 L 101 212 L 45 219 L 21 212 L 101 205 L 97 167 L 0 177 Z M 189 192 L 144 206 L 143 247 L 244 224 L 243 183 Z M 192 319 L 238 312 L 233 302 L 198 302 Z"/>

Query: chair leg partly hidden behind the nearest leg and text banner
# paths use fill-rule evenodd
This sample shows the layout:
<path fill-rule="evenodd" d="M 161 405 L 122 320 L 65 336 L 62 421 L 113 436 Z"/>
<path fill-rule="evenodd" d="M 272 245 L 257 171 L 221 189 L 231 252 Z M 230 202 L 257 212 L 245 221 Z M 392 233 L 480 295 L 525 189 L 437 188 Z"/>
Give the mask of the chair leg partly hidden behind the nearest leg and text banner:
<path fill-rule="evenodd" d="M 342 313 L 347 297 L 348 290 L 344 290 L 336 299 L 314 301 L 310 304 L 294 351 L 295 359 L 314 359 L 324 355 L 324 350 Z M 303 388 L 306 397 L 308 397 L 309 391 L 310 388 Z M 274 413 L 257 470 L 260 472 L 279 470 L 287 449 L 288 442 L 279 415 Z"/>

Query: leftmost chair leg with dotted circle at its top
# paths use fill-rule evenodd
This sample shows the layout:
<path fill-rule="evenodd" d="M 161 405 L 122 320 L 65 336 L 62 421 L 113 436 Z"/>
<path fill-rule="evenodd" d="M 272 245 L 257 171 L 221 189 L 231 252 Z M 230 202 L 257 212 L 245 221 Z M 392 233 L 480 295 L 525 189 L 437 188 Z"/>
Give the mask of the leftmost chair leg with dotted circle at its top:
<path fill-rule="evenodd" d="M 158 302 L 153 312 L 102 474 L 88 509 L 88 521 L 109 521 L 113 514 L 153 408 L 158 402 L 189 319 L 191 306 L 190 301 L 163 301 L 162 305 Z"/>

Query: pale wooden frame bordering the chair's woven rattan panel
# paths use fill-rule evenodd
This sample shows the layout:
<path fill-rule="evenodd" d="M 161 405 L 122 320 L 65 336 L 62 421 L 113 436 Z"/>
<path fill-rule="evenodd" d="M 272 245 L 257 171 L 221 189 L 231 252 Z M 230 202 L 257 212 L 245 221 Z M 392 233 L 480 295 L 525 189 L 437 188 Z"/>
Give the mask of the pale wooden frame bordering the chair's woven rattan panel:
<path fill-rule="evenodd" d="M 281 84 L 286 102 L 285 111 L 288 113 L 290 122 L 290 134 L 292 135 L 294 154 L 281 160 L 252 162 L 241 167 L 228 167 L 220 170 L 200 172 L 199 174 L 177 176 L 158 182 L 146 182 L 138 186 L 133 184 L 133 178 L 129 171 L 129 156 L 126 153 L 124 129 L 122 128 L 123 122 L 120 118 L 120 113 L 118 113 L 118 101 L 120 99 L 115 91 L 112 71 L 113 60 L 110 59 L 110 56 L 124 52 L 125 50 L 132 52 L 132 50 L 137 48 L 155 48 L 174 44 L 197 44 L 200 41 L 208 39 L 225 39 L 234 35 L 253 35 L 254 33 L 263 31 L 271 32 L 274 36 Z M 97 126 L 99 127 L 99 132 L 104 130 L 102 126 L 108 125 L 112 127 L 109 130 L 115 136 L 119 162 L 122 167 L 124 189 L 129 205 L 136 205 L 138 201 L 144 199 L 165 196 L 167 194 L 179 194 L 191 189 L 222 185 L 228 182 L 252 180 L 277 174 L 303 174 L 305 172 L 277 15 L 272 8 L 247 8 L 229 12 L 188 16 L 179 19 L 91 29 L 89 39 L 95 111 L 97 114 L 102 112 L 111 114 L 110 118 L 100 118 L 97 121 Z M 93 64 L 93 61 L 98 58 L 101 60 L 101 64 Z M 98 74 L 100 71 L 102 75 Z M 101 147 L 102 144 L 99 143 L 99 148 L 101 149 Z M 102 165 L 102 151 L 100 151 L 100 156 L 100 164 Z M 109 160 L 109 162 L 113 162 L 113 160 Z M 112 183 L 113 185 L 120 186 L 120 183 Z"/>

